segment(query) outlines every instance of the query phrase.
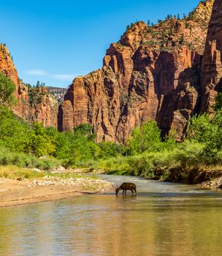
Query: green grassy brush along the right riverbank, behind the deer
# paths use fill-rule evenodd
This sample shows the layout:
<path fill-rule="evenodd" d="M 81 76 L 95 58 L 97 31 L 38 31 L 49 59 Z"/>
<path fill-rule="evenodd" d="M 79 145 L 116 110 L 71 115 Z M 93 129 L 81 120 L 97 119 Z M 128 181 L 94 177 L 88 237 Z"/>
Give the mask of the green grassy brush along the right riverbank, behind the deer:
<path fill-rule="evenodd" d="M 172 150 L 148 152 L 128 157 L 101 159 L 92 168 L 107 170 L 108 173 L 129 174 L 153 178 L 154 172 L 174 168 L 197 168 L 205 165 L 202 157 L 204 145 L 188 141 L 178 144 Z"/>

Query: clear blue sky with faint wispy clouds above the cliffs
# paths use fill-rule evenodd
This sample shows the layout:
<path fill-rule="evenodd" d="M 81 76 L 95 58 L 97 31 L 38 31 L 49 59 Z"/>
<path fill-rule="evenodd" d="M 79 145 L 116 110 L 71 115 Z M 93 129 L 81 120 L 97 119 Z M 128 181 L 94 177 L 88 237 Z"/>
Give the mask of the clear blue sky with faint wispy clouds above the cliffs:
<path fill-rule="evenodd" d="M 66 87 L 77 75 L 102 67 L 111 42 L 137 20 L 156 23 L 188 13 L 199 0 L 0 0 L 0 42 L 7 44 L 18 75 Z"/>

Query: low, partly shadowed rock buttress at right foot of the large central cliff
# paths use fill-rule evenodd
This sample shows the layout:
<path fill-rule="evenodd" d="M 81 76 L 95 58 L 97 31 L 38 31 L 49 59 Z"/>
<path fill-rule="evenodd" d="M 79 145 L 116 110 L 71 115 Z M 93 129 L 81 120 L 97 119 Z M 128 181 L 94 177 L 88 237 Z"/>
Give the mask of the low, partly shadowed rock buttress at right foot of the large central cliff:
<path fill-rule="evenodd" d="M 163 135 L 171 133 L 177 141 L 183 140 L 189 118 L 199 111 L 199 79 L 198 69 L 185 69 L 177 89 L 164 97 L 158 116 Z"/>

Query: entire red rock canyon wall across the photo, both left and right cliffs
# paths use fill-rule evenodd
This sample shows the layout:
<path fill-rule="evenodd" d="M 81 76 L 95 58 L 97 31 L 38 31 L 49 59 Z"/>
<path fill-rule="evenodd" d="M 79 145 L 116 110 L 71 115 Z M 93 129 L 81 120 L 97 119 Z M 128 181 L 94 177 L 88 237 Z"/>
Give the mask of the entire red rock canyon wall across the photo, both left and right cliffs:
<path fill-rule="evenodd" d="M 101 69 L 75 78 L 65 95 L 50 89 L 59 101 L 64 97 L 59 106 L 47 89 L 23 84 L 0 44 L 0 71 L 16 86 L 13 111 L 60 131 L 91 124 L 97 142 L 126 143 L 134 127 L 152 119 L 163 135 L 181 141 L 194 113 L 213 113 L 221 89 L 221 17 L 221 1 L 209 0 L 182 20 L 131 24 L 107 49 Z"/>

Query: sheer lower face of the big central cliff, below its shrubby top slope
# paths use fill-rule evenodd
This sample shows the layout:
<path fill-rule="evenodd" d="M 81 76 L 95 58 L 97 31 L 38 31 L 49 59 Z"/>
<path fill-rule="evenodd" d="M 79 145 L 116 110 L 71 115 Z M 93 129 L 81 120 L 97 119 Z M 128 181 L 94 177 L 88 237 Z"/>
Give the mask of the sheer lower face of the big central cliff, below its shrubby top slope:
<path fill-rule="evenodd" d="M 88 123 L 98 141 L 124 143 L 134 127 L 156 120 L 164 95 L 177 88 L 184 69 L 198 62 L 199 55 L 186 46 L 167 52 L 141 45 L 134 52 L 112 44 L 104 67 L 69 87 L 58 111 L 58 128 Z"/>

